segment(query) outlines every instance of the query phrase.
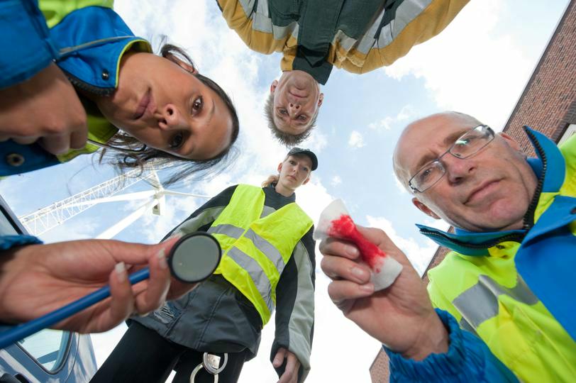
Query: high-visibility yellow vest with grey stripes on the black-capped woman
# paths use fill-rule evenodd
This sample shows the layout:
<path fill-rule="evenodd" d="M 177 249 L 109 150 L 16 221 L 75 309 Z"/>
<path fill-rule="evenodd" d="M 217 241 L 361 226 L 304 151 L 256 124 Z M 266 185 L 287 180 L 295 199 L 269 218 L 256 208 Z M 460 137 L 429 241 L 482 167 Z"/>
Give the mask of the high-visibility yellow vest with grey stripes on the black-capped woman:
<path fill-rule="evenodd" d="M 296 203 L 265 209 L 260 187 L 240 184 L 209 228 L 222 248 L 214 272 L 222 274 L 252 302 L 264 326 L 276 306 L 276 286 L 298 241 L 312 220 Z"/>

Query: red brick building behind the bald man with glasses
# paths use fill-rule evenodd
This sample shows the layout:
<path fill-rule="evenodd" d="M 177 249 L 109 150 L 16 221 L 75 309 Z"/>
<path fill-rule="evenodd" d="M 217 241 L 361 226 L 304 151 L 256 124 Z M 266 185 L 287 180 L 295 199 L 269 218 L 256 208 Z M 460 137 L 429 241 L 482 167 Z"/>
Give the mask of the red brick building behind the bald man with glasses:
<path fill-rule="evenodd" d="M 536 65 L 504 132 L 514 137 L 533 155 L 532 145 L 522 131 L 528 125 L 557 143 L 576 133 L 576 0 L 570 4 Z M 438 248 L 426 272 L 438 265 L 448 250 Z M 426 272 L 423 279 L 427 282 Z M 373 383 L 388 382 L 388 360 L 380 351 L 372 366 Z"/>

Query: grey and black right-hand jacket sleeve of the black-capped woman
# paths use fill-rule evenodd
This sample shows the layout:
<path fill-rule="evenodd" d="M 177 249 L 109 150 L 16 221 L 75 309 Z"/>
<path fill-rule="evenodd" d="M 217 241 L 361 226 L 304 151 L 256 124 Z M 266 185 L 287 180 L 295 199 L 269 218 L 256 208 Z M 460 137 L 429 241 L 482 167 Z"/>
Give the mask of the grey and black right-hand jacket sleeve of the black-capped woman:
<path fill-rule="evenodd" d="M 298 382 L 304 382 L 310 370 L 310 354 L 314 334 L 314 227 L 302 237 L 292 252 L 276 287 L 276 333 L 270 361 L 279 348 L 286 348 L 298 357 Z M 284 372 L 285 362 L 277 370 Z"/>

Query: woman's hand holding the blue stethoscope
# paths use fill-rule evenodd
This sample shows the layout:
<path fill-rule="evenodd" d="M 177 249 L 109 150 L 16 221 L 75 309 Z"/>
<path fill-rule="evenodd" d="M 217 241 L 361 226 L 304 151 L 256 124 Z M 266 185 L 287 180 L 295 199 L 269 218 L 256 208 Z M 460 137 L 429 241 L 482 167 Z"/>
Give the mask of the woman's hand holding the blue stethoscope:
<path fill-rule="evenodd" d="M 57 323 L 54 328 L 108 331 L 133 313 L 160 307 L 170 287 L 165 254 L 177 238 L 159 245 L 117 240 L 74 240 L 26 245 L 0 255 L 0 321 L 20 323 L 59 309 L 110 284 L 111 297 Z M 131 286 L 128 273 L 148 265 L 150 279 Z M 174 296 L 194 284 L 179 284 Z"/>

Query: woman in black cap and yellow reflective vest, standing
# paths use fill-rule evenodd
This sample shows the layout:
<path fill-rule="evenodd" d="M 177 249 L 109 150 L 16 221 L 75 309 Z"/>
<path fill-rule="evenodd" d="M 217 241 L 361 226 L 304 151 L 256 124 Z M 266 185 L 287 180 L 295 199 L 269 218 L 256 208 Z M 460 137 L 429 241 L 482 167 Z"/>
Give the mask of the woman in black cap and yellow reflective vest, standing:
<path fill-rule="evenodd" d="M 223 252 L 218 269 L 181 299 L 131 318 L 91 382 L 165 382 L 172 369 L 172 382 L 214 382 L 210 367 L 202 365 L 205 353 L 221 357 L 221 367 L 226 364 L 218 382 L 238 382 L 274 311 L 270 361 L 279 382 L 304 382 L 314 331 L 316 262 L 314 226 L 294 191 L 317 167 L 314 152 L 293 148 L 262 187 L 228 187 L 168 233 L 212 233 Z"/>

